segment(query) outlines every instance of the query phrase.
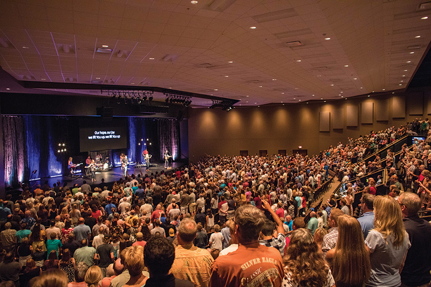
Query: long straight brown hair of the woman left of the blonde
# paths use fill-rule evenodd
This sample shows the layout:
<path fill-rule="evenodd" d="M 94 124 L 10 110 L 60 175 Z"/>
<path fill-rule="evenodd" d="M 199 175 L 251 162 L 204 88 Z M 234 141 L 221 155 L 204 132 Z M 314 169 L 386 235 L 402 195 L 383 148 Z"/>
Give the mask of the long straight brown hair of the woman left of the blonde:
<path fill-rule="evenodd" d="M 332 264 L 335 282 L 359 285 L 371 274 L 370 255 L 365 249 L 361 224 L 349 215 L 338 217 L 338 240 Z"/>

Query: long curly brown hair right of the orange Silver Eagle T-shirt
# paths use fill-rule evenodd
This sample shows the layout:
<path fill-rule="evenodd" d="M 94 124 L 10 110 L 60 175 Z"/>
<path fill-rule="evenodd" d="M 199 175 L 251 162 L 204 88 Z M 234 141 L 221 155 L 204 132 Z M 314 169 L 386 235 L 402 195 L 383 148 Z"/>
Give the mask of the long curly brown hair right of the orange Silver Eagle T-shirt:
<path fill-rule="evenodd" d="M 327 281 L 329 268 L 325 265 L 323 253 L 311 233 L 304 228 L 292 232 L 283 263 L 291 280 L 300 286 L 322 287 Z"/>

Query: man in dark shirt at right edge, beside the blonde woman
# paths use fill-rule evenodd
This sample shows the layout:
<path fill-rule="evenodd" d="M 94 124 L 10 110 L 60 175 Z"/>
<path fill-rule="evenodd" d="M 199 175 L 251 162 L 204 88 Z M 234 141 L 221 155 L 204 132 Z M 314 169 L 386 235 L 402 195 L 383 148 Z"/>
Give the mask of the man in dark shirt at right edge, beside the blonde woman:
<path fill-rule="evenodd" d="M 403 223 L 412 246 L 407 252 L 401 272 L 401 286 L 429 286 L 431 281 L 431 225 L 419 218 L 422 200 L 412 192 L 402 193 L 398 199 L 403 214 Z"/>

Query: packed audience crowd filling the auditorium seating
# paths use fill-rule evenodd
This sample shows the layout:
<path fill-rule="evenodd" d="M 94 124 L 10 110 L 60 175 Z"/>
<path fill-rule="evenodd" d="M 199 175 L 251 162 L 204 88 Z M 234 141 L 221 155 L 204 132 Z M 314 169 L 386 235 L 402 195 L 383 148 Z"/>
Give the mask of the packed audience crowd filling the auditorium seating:
<path fill-rule="evenodd" d="M 431 205 L 431 133 L 397 162 L 358 164 L 428 133 L 428 119 L 419 122 L 315 156 L 207 155 L 112 186 L 24 184 L 15 202 L 0 199 L 0 287 L 429 286 L 431 225 L 418 212 Z M 347 183 L 382 164 L 388 195 L 376 196 L 370 179 L 310 208 L 329 171 Z"/>

